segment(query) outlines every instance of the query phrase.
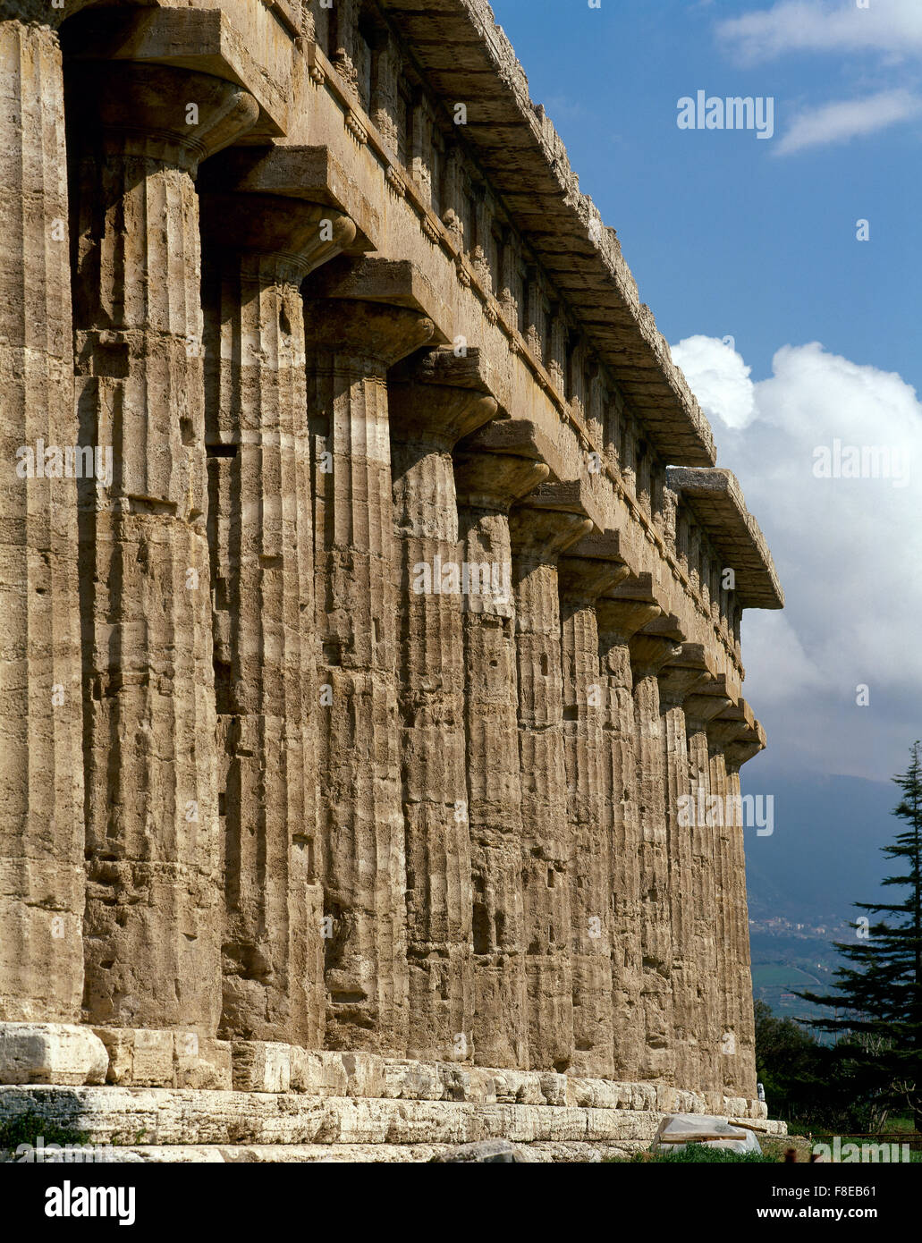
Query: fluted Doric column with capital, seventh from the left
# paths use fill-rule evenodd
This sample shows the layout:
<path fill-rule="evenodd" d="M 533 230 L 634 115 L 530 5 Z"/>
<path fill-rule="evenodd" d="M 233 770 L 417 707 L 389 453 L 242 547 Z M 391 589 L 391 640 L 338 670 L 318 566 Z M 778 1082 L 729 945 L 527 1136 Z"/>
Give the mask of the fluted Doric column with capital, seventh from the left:
<path fill-rule="evenodd" d="M 558 558 L 593 528 L 574 484 L 544 484 L 509 517 L 516 595 L 528 1058 L 573 1064 L 570 832 Z"/>

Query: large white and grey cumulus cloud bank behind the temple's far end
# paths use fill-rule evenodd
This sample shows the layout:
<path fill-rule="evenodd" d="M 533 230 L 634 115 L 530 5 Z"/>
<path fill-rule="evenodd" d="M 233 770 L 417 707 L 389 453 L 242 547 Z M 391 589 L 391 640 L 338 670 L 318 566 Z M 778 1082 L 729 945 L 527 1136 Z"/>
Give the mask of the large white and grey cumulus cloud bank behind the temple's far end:
<path fill-rule="evenodd" d="M 922 736 L 922 403 L 900 375 L 814 342 L 784 346 L 753 383 L 718 338 L 673 357 L 713 421 L 785 589 L 783 614 L 743 620 L 746 696 L 767 759 L 887 778 Z M 748 385 L 748 393 L 746 388 Z M 752 414 L 743 415 L 752 403 Z M 823 477 L 824 455 L 891 464 L 890 477 Z M 871 454 L 872 451 L 872 454 Z M 857 459 L 856 459 L 857 460 Z M 869 475 L 871 471 L 869 470 Z M 900 482 L 897 476 L 903 477 Z M 895 486 L 900 485 L 900 486 Z M 867 686 L 870 705 L 857 706 Z"/>

